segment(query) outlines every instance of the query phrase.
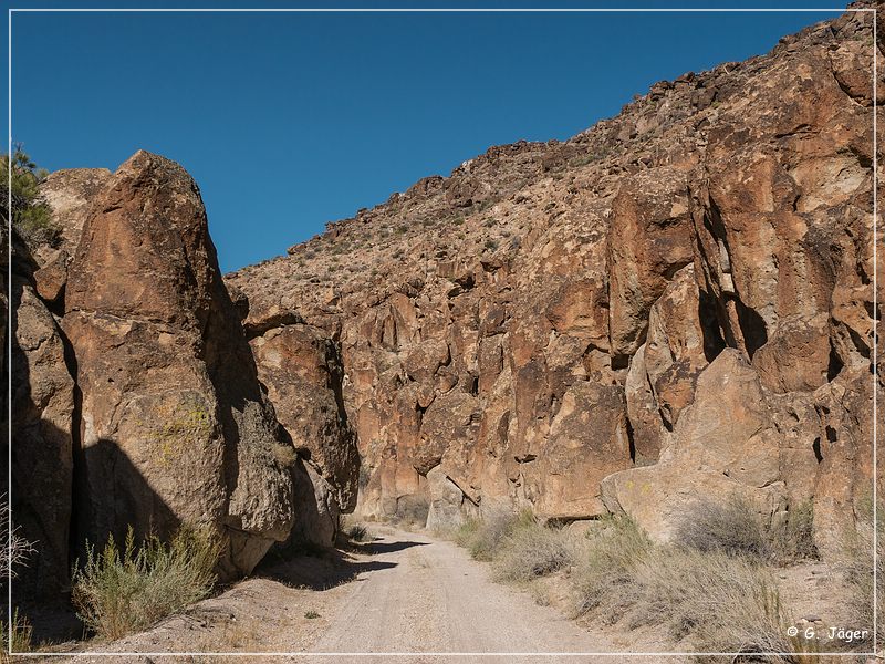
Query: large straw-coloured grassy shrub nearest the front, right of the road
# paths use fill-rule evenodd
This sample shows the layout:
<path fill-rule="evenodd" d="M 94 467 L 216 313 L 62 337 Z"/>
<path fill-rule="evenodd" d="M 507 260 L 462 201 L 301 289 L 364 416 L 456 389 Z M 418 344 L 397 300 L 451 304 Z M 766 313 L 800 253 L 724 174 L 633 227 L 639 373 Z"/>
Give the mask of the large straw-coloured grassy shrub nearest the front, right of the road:
<path fill-rule="evenodd" d="M 763 563 L 722 550 L 659 548 L 636 569 L 642 588 L 636 622 L 665 622 L 697 652 L 794 652 L 791 624 Z M 701 657 L 701 661 L 704 658 Z M 712 660 L 711 660 L 712 661 Z M 799 662 L 774 656 L 767 662 Z"/>

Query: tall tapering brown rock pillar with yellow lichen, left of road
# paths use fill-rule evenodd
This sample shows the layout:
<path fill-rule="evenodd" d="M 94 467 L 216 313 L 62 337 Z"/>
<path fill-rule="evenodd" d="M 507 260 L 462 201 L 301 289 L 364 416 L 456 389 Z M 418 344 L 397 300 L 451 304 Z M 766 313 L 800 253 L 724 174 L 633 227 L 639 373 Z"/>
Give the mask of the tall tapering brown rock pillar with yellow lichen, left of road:
<path fill-rule="evenodd" d="M 209 523 L 223 572 L 249 573 L 294 522 L 290 445 L 180 166 L 138 152 L 95 197 L 62 326 L 81 394 L 79 539 Z"/>

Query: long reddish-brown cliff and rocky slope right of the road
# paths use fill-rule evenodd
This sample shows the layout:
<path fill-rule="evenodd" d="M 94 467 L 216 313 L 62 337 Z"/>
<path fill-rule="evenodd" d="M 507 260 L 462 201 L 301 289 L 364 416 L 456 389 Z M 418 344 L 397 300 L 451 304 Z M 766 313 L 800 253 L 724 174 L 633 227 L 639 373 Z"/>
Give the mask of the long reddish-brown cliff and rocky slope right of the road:
<path fill-rule="evenodd" d="M 358 510 L 626 510 L 666 538 L 691 496 L 739 492 L 772 519 L 813 499 L 825 544 L 871 488 L 872 20 L 228 274 L 253 344 L 302 319 L 340 344 Z"/>

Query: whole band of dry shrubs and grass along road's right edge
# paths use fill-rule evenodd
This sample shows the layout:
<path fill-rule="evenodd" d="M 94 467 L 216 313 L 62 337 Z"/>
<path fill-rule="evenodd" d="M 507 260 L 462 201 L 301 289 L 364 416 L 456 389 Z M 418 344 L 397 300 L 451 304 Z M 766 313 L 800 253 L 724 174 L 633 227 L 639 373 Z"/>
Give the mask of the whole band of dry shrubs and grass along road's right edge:
<path fill-rule="evenodd" d="M 465 522 L 455 540 L 473 558 L 492 561 L 499 580 L 529 582 L 566 570 L 576 615 L 610 624 L 624 619 L 628 629 L 664 625 L 695 652 L 792 653 L 766 661 L 805 664 L 816 662 L 808 652 L 814 643 L 787 635 L 792 622 L 770 571 L 774 562 L 816 553 L 810 508 L 790 516 L 775 531 L 738 499 L 698 504 L 676 541 L 659 546 L 627 517 L 598 519 L 580 538 L 542 526 L 530 512 L 494 512 Z M 872 574 L 857 569 L 863 585 Z M 535 594 L 549 600 L 542 590 Z"/>

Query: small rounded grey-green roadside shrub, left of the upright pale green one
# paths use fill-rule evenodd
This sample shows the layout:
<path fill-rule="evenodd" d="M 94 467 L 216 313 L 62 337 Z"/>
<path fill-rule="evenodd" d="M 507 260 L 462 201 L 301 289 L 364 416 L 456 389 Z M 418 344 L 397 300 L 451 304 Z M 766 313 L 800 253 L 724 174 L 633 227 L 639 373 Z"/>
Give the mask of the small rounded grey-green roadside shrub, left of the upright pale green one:
<path fill-rule="evenodd" d="M 531 581 L 573 561 L 574 549 L 565 531 L 532 522 L 503 539 L 494 559 L 494 574 L 501 581 Z"/>

